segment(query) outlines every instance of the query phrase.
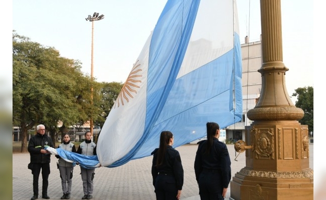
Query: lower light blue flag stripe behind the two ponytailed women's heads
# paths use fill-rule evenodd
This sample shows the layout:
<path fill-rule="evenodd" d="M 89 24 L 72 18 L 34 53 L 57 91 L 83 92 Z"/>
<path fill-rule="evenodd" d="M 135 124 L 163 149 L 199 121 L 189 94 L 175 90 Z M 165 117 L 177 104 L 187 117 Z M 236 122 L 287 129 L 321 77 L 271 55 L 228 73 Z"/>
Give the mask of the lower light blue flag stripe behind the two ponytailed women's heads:
<path fill-rule="evenodd" d="M 175 136 L 176 147 L 205 136 L 208 121 L 217 121 L 224 128 L 241 120 L 233 109 L 233 58 L 232 49 L 176 80 L 160 117 L 133 159 L 148 156 L 148 148 L 158 146 L 159 134 L 167 127 Z M 236 65 L 237 70 L 239 67 Z M 242 99 L 240 102 L 242 105 Z M 242 112 L 242 106 L 238 109 Z"/>

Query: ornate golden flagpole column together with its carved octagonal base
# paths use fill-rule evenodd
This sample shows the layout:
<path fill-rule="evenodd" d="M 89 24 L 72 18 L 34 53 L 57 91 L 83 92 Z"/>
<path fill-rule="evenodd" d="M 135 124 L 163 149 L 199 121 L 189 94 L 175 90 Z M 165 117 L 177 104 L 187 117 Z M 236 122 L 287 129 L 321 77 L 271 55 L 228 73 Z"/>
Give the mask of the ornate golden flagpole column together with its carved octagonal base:
<path fill-rule="evenodd" d="M 298 122 L 303 110 L 293 105 L 285 85 L 280 0 L 260 0 L 260 13 L 262 88 L 247 112 L 254 121 L 246 141 L 236 143 L 246 149 L 246 166 L 231 180 L 230 199 L 313 199 L 308 126 Z"/>

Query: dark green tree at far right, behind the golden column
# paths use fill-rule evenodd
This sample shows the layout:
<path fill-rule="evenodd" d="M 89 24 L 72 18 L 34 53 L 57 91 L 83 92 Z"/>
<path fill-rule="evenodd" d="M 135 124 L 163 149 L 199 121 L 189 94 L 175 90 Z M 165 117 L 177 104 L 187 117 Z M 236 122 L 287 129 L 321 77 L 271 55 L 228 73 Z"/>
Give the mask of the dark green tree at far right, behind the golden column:
<path fill-rule="evenodd" d="M 309 131 L 313 131 L 313 87 L 298 87 L 292 96 L 296 96 L 295 106 L 303 110 L 301 124 L 308 125 Z"/>

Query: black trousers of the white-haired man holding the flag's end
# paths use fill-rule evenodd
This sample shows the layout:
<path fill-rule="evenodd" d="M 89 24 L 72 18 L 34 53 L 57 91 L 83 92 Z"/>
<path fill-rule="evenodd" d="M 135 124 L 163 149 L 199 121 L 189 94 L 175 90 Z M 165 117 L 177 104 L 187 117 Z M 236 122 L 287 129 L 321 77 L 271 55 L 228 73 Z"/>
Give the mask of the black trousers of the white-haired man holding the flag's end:
<path fill-rule="evenodd" d="M 42 195 L 48 195 L 50 163 L 33 163 L 33 192 L 34 195 L 39 195 L 39 176 L 42 169 Z"/>

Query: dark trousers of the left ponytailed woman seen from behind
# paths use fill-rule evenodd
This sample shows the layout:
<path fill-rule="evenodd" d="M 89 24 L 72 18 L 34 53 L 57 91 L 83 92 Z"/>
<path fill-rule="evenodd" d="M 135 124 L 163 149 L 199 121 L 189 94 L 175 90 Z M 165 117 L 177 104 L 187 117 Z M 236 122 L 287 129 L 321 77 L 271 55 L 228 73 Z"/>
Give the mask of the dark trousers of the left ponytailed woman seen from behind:
<path fill-rule="evenodd" d="M 175 177 L 158 174 L 155 179 L 155 194 L 157 200 L 177 199 L 178 189 Z"/>

